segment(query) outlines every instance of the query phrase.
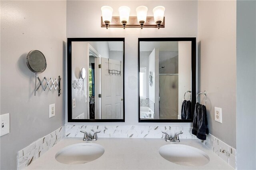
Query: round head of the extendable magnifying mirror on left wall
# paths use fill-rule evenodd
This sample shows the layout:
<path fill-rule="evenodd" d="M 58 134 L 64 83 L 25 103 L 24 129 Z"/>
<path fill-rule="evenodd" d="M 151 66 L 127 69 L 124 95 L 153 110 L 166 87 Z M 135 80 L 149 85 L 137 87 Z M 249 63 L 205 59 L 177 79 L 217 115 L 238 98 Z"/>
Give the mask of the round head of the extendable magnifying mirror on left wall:
<path fill-rule="evenodd" d="M 38 50 L 32 50 L 26 57 L 28 68 L 34 73 L 42 73 L 46 69 L 44 54 Z"/>

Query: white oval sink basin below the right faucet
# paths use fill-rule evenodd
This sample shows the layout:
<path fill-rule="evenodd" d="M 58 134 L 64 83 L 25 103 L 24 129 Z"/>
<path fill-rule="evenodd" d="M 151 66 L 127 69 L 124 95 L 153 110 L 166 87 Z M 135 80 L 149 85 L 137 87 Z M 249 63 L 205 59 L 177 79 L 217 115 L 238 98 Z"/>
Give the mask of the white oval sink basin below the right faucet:
<path fill-rule="evenodd" d="M 167 144 L 159 149 L 166 160 L 184 166 L 202 166 L 210 161 L 209 156 L 198 148 L 183 144 Z"/>

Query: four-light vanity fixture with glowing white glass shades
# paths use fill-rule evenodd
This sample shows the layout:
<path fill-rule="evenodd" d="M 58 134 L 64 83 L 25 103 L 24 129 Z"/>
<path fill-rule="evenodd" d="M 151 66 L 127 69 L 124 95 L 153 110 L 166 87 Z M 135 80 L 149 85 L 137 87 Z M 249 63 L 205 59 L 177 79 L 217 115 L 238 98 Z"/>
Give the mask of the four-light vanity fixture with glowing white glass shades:
<path fill-rule="evenodd" d="M 112 16 L 113 8 L 110 6 L 102 6 L 101 27 L 108 28 L 164 28 L 163 6 L 157 6 L 153 9 L 154 16 L 147 16 L 148 8 L 146 6 L 138 6 L 136 8 L 137 16 L 130 16 L 130 8 L 128 6 L 120 6 L 118 8 L 119 16 Z M 111 25 L 110 25 L 111 23 Z"/>

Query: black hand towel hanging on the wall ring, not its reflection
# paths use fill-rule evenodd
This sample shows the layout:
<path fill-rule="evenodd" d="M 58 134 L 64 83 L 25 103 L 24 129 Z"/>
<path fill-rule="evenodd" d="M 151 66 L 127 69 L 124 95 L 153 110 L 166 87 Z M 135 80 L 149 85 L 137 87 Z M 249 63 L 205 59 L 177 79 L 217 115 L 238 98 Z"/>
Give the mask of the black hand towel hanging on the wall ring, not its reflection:
<path fill-rule="evenodd" d="M 206 107 L 199 103 L 195 106 L 192 134 L 201 140 L 206 140 L 206 134 L 209 134 Z"/>

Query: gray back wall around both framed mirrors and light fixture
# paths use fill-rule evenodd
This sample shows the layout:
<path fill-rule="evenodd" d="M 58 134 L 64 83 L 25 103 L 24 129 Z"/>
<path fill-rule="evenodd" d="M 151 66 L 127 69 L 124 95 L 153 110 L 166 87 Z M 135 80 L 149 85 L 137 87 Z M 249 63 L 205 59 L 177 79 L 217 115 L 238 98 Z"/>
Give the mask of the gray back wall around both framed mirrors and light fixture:
<path fill-rule="evenodd" d="M 103 5 L 114 9 L 119 16 L 122 5 L 131 8 L 130 16 L 136 16 L 140 5 L 153 8 L 162 5 L 165 11 L 165 28 L 120 29 L 100 28 Z M 98 125 L 191 125 L 191 123 L 138 123 L 138 38 L 142 37 L 196 37 L 197 1 L 67 1 L 67 37 L 124 37 L 125 38 L 125 123 L 97 123 Z M 93 22 L 92 22 L 93 21 Z M 90 23 L 90 24 L 88 24 Z M 74 27 L 75 26 L 75 27 Z M 67 121 L 67 120 L 66 120 Z M 84 123 L 68 123 L 81 125 Z M 86 123 L 92 124 L 92 123 Z M 95 123 L 93 123 L 95 124 Z"/>

